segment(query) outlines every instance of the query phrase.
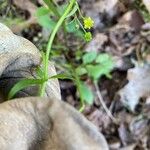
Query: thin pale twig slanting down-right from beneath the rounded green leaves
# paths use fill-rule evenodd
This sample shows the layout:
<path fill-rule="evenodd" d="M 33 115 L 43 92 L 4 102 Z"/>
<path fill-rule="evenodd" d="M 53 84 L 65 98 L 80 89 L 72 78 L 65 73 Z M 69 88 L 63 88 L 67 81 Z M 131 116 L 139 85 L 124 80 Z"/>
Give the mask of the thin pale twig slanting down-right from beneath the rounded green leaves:
<path fill-rule="evenodd" d="M 116 122 L 117 122 L 117 119 L 112 115 L 112 113 L 110 112 L 110 110 L 107 108 L 107 106 L 106 106 L 106 104 L 105 104 L 105 102 L 104 102 L 104 100 L 103 100 L 103 97 L 102 97 L 102 95 L 101 95 L 101 92 L 100 92 L 100 89 L 99 89 L 99 87 L 98 87 L 98 84 L 97 84 L 97 83 L 94 83 L 94 85 L 95 85 L 95 89 L 96 89 L 97 96 L 98 96 L 99 101 L 100 101 L 100 103 L 102 104 L 104 110 L 106 111 L 106 113 L 107 113 L 107 115 L 110 117 L 110 119 L 111 119 L 113 122 L 116 123 Z"/>

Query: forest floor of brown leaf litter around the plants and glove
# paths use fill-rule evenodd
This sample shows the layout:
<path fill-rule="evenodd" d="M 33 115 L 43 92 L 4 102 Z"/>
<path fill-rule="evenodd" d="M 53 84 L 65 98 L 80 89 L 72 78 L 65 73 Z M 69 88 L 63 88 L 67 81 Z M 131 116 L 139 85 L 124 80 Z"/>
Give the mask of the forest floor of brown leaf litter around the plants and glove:
<path fill-rule="evenodd" d="M 49 31 L 37 23 L 34 15 L 36 9 L 43 5 L 42 1 L 0 3 L 0 20 L 40 50 L 44 49 Z M 61 5 L 64 1 L 58 0 L 58 3 Z M 83 51 L 112 55 L 115 61 L 112 77 L 102 76 L 98 85 L 117 122 L 105 112 L 96 94 L 97 89 L 89 78 L 84 81 L 95 93 L 95 98 L 93 105 L 86 105 L 83 114 L 104 134 L 111 150 L 150 149 L 150 5 L 140 0 L 79 0 L 79 4 L 84 15 L 95 22 L 93 39 L 83 44 L 68 35 L 66 44 L 70 51 L 80 44 Z M 19 25 L 21 20 L 28 25 Z M 55 42 L 59 41 L 64 42 L 61 33 Z M 73 59 L 71 54 L 70 58 Z M 74 83 L 60 80 L 60 87 L 62 99 L 78 109 L 79 96 Z"/>

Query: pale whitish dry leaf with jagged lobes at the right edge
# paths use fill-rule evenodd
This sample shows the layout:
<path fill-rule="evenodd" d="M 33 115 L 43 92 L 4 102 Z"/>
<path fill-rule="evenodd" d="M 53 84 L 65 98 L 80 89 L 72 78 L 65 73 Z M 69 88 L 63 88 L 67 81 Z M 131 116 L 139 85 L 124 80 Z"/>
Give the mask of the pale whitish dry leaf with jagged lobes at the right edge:
<path fill-rule="evenodd" d="M 134 111 L 140 98 L 148 98 L 150 96 L 149 65 L 129 69 L 127 79 L 129 82 L 119 91 L 119 95 L 123 104 Z"/>

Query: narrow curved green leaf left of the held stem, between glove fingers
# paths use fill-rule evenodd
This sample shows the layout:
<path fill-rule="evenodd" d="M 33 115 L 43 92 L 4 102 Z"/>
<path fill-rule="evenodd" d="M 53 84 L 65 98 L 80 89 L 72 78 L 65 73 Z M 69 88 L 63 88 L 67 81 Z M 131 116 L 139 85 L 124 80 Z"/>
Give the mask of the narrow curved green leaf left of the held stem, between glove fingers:
<path fill-rule="evenodd" d="M 8 94 L 8 99 L 11 99 L 14 97 L 14 95 L 19 92 L 20 90 L 36 84 L 42 84 L 44 82 L 43 79 L 24 79 L 17 82 L 12 89 L 10 90 Z"/>

